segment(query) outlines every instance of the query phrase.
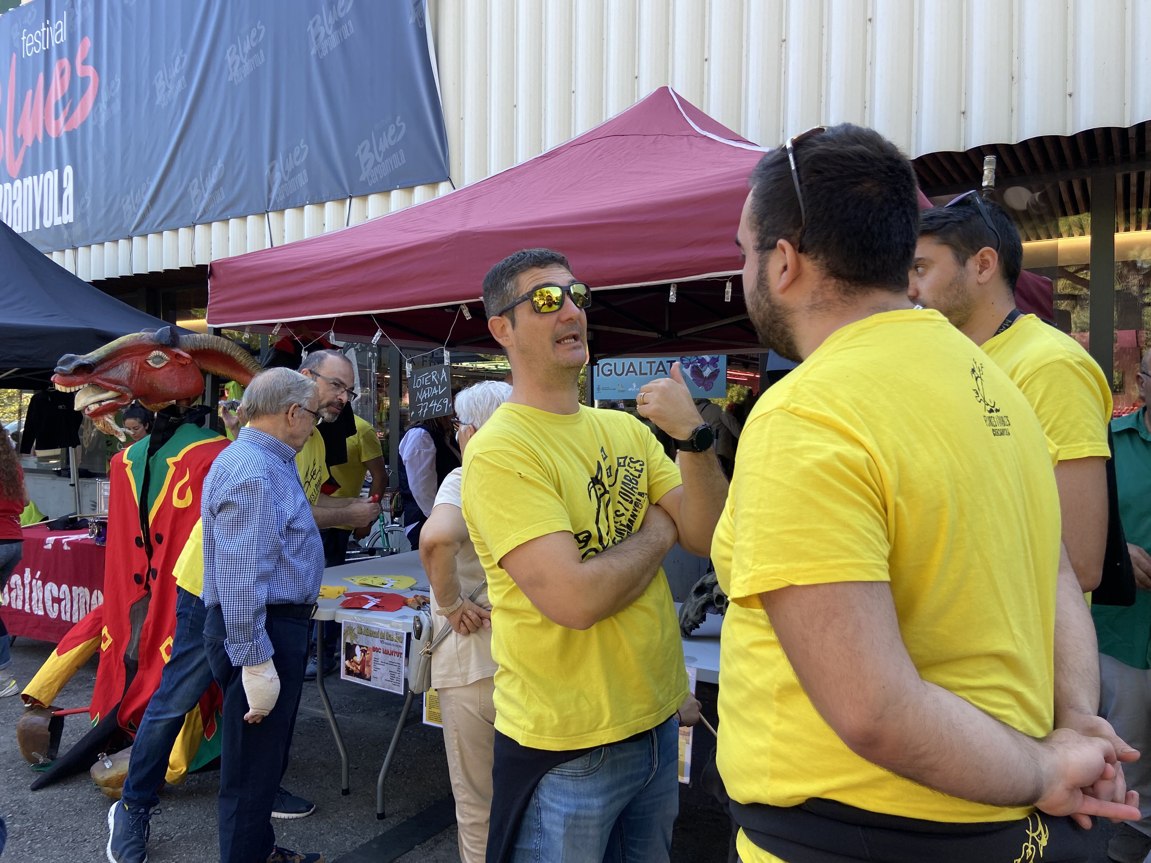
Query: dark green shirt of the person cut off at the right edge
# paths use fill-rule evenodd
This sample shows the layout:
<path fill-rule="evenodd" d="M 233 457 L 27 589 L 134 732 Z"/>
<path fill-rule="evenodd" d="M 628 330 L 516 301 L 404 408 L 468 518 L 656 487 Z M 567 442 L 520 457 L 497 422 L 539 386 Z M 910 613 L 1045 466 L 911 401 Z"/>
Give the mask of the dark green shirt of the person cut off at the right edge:
<path fill-rule="evenodd" d="M 1135 413 L 1111 421 L 1115 444 L 1119 518 L 1133 545 L 1151 550 L 1151 433 L 1144 415 Z M 1135 604 L 1092 605 L 1099 652 L 1133 669 L 1151 669 L 1151 591 L 1136 590 Z"/>

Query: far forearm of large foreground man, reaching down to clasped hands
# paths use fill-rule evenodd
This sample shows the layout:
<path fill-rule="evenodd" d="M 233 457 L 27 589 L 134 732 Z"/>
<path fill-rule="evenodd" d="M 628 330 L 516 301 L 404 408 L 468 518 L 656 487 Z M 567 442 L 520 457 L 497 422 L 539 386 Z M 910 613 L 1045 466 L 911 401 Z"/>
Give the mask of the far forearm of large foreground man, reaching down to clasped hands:
<path fill-rule="evenodd" d="M 1074 715 L 1099 710 L 1099 647 L 1095 623 L 1072 568 L 1067 549 L 1059 549 L 1055 588 L 1055 727 L 1072 725 Z"/>

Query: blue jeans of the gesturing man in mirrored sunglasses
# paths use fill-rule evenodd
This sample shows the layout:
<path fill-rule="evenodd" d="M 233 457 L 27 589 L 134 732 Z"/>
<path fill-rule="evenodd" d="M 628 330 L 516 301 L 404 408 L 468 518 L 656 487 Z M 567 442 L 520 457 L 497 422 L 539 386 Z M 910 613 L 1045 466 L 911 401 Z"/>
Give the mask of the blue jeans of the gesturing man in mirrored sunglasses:
<path fill-rule="evenodd" d="M 550 770 L 528 801 L 512 863 L 668 863 L 679 814 L 679 723 Z"/>

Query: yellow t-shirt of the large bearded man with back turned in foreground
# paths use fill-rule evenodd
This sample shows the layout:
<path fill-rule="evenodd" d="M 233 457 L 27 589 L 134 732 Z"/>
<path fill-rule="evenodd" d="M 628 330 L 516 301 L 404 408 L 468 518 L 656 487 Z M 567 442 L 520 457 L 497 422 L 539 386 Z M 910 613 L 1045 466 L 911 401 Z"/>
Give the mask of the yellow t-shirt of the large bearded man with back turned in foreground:
<path fill-rule="evenodd" d="M 939 822 L 1026 816 L 852 753 L 805 694 L 759 594 L 887 581 L 920 675 L 1042 736 L 1053 723 L 1059 526 L 1035 412 L 943 315 L 887 312 L 832 334 L 752 411 L 711 545 L 732 598 L 718 743 L 732 799 L 824 797 Z M 746 838 L 739 850 L 773 860 Z"/>

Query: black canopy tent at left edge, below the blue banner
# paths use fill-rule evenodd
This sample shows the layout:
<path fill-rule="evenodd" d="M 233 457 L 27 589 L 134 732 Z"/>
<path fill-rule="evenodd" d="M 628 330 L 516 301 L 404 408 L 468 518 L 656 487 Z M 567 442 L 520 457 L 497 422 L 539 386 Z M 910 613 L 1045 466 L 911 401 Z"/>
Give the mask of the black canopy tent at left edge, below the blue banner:
<path fill-rule="evenodd" d="M 0 388 L 47 385 L 63 354 L 167 326 L 73 275 L 0 222 Z"/>

